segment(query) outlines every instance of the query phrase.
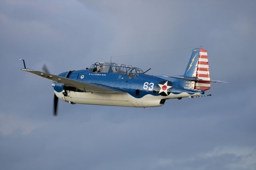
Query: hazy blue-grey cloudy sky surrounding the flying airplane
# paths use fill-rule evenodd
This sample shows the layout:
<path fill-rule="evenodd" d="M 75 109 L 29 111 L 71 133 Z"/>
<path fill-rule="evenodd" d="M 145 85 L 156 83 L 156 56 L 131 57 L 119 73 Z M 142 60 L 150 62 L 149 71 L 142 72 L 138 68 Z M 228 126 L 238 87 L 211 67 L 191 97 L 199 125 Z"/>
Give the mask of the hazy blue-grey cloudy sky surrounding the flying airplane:
<path fill-rule="evenodd" d="M 253 0 L 0 0 L 1 170 L 256 170 Z M 162 107 L 71 105 L 52 116 L 51 82 L 111 56 L 182 75 L 208 51 L 211 97 Z"/>

